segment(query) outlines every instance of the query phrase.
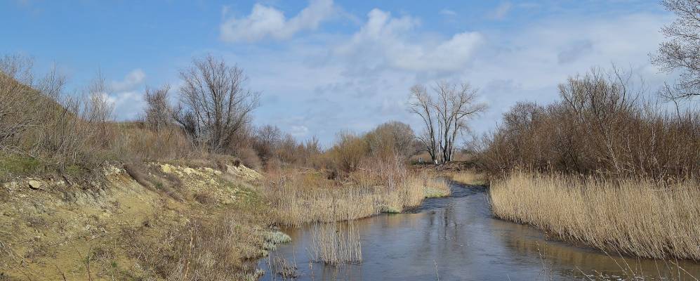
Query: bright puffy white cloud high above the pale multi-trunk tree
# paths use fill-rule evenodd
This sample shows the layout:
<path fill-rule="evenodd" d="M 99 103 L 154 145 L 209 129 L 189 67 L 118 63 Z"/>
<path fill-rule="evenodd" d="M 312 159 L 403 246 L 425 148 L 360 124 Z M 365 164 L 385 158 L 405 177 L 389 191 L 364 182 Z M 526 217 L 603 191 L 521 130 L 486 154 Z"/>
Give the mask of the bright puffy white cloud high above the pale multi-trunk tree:
<path fill-rule="evenodd" d="M 420 21 L 409 15 L 393 18 L 377 8 L 367 15 L 367 22 L 336 55 L 364 60 L 375 67 L 392 67 L 415 72 L 451 72 L 464 67 L 482 41 L 478 32 L 454 34 L 450 39 L 416 39 Z M 371 63 L 374 62 L 374 63 Z"/>

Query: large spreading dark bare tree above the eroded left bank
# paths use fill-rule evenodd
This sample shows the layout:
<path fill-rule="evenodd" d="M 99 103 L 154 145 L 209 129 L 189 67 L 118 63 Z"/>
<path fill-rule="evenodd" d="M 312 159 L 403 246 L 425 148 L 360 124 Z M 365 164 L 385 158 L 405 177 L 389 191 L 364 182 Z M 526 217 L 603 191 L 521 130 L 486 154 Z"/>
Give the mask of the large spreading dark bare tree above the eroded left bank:
<path fill-rule="evenodd" d="M 251 122 L 258 107 L 259 93 L 244 89 L 246 77 L 237 66 L 207 55 L 194 58 L 192 66 L 180 72 L 180 105 L 176 121 L 194 143 L 211 152 L 223 152 L 232 138 Z"/>

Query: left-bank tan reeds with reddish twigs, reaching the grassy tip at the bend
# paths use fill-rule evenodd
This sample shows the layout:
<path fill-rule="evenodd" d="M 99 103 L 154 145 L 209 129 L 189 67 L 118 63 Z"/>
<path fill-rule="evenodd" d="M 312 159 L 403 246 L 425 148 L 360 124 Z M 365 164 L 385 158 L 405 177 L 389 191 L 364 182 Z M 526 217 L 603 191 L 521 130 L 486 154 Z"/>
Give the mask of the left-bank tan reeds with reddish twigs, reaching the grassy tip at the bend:
<path fill-rule="evenodd" d="M 428 193 L 449 195 L 447 182 L 409 171 L 400 159 L 373 165 L 342 180 L 315 170 L 271 174 L 261 189 L 275 210 L 276 223 L 286 226 L 396 213 L 418 206 Z"/>

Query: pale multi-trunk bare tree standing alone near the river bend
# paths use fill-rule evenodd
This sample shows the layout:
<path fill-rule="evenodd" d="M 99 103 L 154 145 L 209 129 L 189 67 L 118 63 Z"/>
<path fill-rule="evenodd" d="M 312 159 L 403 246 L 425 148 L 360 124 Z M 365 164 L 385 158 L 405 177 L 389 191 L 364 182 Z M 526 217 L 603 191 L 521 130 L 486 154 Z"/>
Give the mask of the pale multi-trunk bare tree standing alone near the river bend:
<path fill-rule="evenodd" d="M 425 131 L 418 139 L 425 146 L 432 161 L 449 162 L 454 155 L 456 139 L 468 129 L 467 121 L 486 110 L 477 103 L 477 89 L 468 83 L 437 82 L 432 87 L 437 98 L 432 98 L 424 86 L 411 89 L 411 112 L 420 116 Z"/>

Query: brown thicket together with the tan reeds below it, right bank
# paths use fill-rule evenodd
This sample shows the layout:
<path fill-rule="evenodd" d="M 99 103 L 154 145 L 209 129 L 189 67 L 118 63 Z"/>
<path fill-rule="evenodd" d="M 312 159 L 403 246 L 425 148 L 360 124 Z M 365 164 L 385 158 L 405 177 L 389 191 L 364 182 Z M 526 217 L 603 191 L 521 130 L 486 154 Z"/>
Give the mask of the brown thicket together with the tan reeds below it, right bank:
<path fill-rule="evenodd" d="M 491 207 L 610 254 L 699 260 L 700 114 L 643 101 L 630 77 L 593 70 L 507 112 L 478 154 Z"/>

